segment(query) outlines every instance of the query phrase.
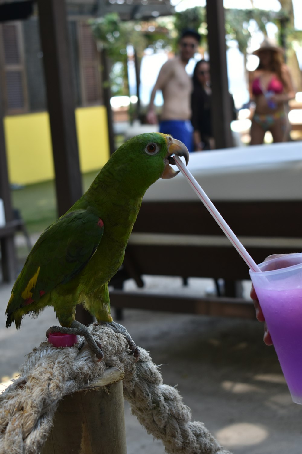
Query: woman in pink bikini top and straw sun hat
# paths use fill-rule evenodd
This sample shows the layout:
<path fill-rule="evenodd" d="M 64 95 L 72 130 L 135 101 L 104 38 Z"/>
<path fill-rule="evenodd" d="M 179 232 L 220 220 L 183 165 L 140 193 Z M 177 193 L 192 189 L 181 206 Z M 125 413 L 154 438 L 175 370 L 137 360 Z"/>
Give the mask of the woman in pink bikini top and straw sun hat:
<path fill-rule="evenodd" d="M 266 131 L 272 133 L 274 142 L 285 142 L 288 127 L 285 104 L 295 97 L 295 91 L 283 61 L 283 49 L 265 38 L 253 54 L 260 62 L 250 87 L 251 100 L 256 104 L 250 145 L 263 143 Z"/>

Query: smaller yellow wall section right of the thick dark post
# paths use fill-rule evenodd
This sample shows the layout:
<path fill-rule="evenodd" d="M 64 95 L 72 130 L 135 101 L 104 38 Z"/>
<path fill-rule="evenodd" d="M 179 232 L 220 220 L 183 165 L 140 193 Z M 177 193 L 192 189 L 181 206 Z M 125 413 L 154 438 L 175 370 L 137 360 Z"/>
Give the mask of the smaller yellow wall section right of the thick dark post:
<path fill-rule="evenodd" d="M 81 172 L 101 169 L 109 159 L 105 106 L 76 109 Z"/>

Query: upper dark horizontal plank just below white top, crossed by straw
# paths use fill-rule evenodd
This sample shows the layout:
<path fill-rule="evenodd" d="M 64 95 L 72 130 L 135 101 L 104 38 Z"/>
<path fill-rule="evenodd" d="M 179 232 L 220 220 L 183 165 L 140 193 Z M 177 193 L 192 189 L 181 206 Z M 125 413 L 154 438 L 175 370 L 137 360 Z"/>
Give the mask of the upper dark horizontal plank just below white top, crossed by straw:
<path fill-rule="evenodd" d="M 215 206 L 237 236 L 302 237 L 301 200 L 216 200 Z M 179 222 L 179 213 L 186 222 Z M 151 222 L 152 219 L 160 219 L 160 222 Z M 133 232 L 223 236 L 221 228 L 198 199 L 143 201 Z"/>

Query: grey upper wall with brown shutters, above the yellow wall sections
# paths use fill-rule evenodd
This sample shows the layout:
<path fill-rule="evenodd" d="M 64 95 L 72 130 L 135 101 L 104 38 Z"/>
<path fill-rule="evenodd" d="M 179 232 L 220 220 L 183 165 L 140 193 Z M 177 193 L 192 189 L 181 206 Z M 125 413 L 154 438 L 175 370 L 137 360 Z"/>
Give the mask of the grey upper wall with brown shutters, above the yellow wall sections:
<path fill-rule="evenodd" d="M 5 114 L 47 109 L 38 17 L 0 25 L 0 84 Z M 68 20 L 75 103 L 102 104 L 96 43 L 85 19 Z"/>

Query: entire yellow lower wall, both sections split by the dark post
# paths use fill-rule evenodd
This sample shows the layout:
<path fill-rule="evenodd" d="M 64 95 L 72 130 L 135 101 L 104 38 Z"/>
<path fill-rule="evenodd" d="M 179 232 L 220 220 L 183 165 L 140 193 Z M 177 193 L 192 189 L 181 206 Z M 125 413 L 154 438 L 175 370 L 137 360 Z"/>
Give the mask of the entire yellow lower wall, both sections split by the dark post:
<path fill-rule="evenodd" d="M 99 170 L 109 158 L 104 106 L 76 109 L 81 172 Z M 30 184 L 54 178 L 47 112 L 7 116 L 5 142 L 11 183 Z"/>

